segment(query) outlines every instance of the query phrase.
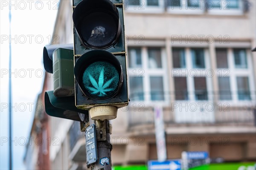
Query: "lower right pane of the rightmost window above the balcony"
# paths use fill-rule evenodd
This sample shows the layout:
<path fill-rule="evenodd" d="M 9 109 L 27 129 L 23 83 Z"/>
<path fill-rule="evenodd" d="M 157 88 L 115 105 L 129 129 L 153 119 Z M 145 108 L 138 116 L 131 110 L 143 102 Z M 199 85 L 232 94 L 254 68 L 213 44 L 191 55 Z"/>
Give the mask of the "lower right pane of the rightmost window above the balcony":
<path fill-rule="evenodd" d="M 248 77 L 236 77 L 238 99 L 239 100 L 250 100 L 250 88 Z"/>

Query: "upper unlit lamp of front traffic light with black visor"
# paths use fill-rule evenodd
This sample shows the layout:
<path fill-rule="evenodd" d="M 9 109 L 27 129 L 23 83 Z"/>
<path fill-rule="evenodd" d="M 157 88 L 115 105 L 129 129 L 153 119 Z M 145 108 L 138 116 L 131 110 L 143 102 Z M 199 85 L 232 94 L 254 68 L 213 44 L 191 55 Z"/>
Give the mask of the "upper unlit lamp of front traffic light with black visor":
<path fill-rule="evenodd" d="M 73 22 L 83 45 L 106 49 L 121 34 L 119 13 L 110 0 L 83 0 L 73 11 Z"/>

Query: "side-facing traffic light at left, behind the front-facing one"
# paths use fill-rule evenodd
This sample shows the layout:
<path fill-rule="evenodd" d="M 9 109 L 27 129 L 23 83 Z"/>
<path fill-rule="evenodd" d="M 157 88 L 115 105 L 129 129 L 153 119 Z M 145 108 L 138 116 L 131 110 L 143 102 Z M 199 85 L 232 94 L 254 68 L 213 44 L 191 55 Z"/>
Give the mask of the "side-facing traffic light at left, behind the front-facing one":
<path fill-rule="evenodd" d="M 53 91 L 44 94 L 46 113 L 59 118 L 88 121 L 88 111 L 75 105 L 73 44 L 47 45 L 43 58 L 45 70 L 52 73 L 54 87 Z"/>

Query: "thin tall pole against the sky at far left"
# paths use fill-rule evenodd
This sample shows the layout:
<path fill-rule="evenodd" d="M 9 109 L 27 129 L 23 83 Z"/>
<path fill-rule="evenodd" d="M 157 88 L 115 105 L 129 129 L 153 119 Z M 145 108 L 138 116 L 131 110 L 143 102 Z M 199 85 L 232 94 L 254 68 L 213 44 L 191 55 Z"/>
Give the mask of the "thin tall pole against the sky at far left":
<path fill-rule="evenodd" d="M 9 34 L 11 35 L 11 8 L 9 9 Z M 12 69 L 12 45 L 9 43 L 9 170 L 12 170 L 12 78 L 11 78 L 11 69 Z"/>

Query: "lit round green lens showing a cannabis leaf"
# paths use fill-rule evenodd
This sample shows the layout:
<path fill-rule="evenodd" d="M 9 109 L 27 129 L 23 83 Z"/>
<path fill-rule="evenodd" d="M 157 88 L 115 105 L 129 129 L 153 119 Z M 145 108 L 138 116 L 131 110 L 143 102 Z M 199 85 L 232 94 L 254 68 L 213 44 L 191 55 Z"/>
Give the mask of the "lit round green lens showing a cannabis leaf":
<path fill-rule="evenodd" d="M 113 96 L 119 86 L 119 73 L 116 67 L 106 61 L 90 64 L 84 70 L 82 78 L 87 94 L 99 99 Z"/>

